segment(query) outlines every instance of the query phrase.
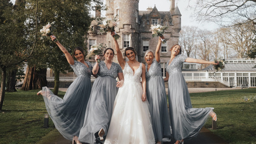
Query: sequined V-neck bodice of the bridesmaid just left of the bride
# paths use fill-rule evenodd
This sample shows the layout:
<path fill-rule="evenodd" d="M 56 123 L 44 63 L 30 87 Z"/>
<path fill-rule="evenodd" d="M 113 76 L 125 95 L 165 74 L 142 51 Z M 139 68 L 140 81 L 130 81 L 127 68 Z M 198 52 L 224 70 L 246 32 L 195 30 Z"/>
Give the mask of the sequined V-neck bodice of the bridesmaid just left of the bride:
<path fill-rule="evenodd" d="M 123 73 L 121 66 L 114 62 L 112 63 L 110 69 L 107 69 L 107 65 L 104 61 L 99 63 L 99 67 L 100 69 L 97 73 L 97 76 L 99 77 L 112 77 L 113 79 L 116 79 L 118 73 Z"/>

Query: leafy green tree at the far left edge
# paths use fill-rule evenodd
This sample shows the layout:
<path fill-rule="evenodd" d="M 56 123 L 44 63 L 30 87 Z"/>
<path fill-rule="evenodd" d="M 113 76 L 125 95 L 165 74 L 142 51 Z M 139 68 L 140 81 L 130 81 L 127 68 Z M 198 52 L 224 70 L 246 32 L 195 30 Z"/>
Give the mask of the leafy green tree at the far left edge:
<path fill-rule="evenodd" d="M 10 0 L 0 2 L 0 110 L 2 110 L 5 97 L 6 69 L 21 64 L 28 59 L 35 48 L 37 35 L 33 34 L 37 33 L 37 31 L 31 34 L 34 37 L 33 46 L 28 47 L 27 43 L 25 43 L 26 37 L 24 33 L 26 27 L 24 22 L 26 18 L 24 18 L 24 8 L 25 3 L 23 0 L 17 0 L 15 5 L 12 5 Z M 37 6 L 34 10 L 37 13 Z M 37 15 L 35 15 L 35 19 L 37 20 Z M 37 27 L 37 22 L 34 27 Z"/>

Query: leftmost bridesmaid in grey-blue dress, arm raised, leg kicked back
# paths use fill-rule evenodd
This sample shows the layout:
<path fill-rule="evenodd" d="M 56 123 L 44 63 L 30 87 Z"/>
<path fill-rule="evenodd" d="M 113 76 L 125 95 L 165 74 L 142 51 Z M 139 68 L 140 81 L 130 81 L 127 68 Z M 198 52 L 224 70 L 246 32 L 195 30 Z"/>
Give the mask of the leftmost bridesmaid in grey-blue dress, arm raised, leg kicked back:
<path fill-rule="evenodd" d="M 51 36 L 51 39 L 54 40 L 56 37 Z M 47 112 L 59 133 L 66 139 L 73 138 L 73 143 L 75 140 L 79 144 L 77 139 L 84 123 L 85 110 L 91 93 L 92 66 L 89 62 L 85 62 L 82 48 L 75 48 L 71 56 L 59 41 L 56 44 L 65 54 L 77 78 L 69 86 L 63 99 L 55 96 L 47 87 L 43 87 L 37 95 L 43 95 Z M 77 61 L 73 59 L 74 56 Z"/>

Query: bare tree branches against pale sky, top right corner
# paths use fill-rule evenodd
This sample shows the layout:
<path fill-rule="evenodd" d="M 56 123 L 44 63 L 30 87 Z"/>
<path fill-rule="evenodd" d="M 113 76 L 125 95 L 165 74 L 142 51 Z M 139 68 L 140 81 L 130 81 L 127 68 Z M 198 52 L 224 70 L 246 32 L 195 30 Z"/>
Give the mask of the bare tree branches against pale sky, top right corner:
<path fill-rule="evenodd" d="M 189 3 L 200 21 L 230 26 L 256 20 L 256 0 L 189 0 Z"/>

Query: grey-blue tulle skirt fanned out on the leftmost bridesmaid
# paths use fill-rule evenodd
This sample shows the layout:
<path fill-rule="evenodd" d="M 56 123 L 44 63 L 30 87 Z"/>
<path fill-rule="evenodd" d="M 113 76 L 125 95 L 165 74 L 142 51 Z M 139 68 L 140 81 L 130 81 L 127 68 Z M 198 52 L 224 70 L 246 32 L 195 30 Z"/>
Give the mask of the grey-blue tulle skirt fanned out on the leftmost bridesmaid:
<path fill-rule="evenodd" d="M 79 135 L 90 93 L 91 79 L 86 76 L 77 77 L 63 99 L 43 87 L 42 94 L 47 112 L 64 138 L 72 140 L 74 135 Z"/>

